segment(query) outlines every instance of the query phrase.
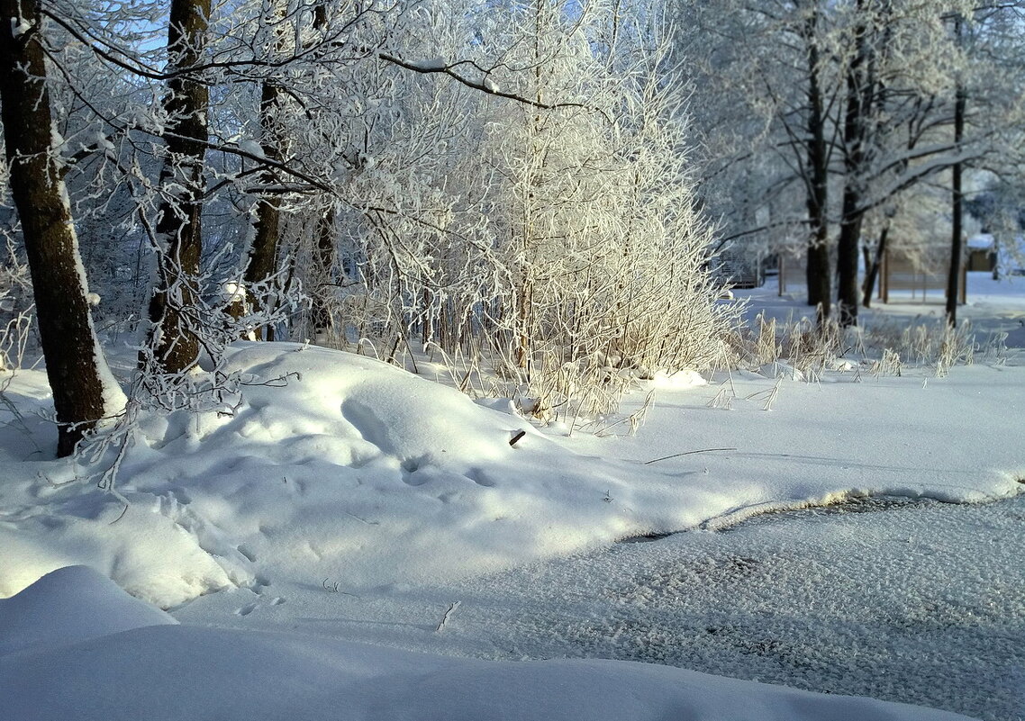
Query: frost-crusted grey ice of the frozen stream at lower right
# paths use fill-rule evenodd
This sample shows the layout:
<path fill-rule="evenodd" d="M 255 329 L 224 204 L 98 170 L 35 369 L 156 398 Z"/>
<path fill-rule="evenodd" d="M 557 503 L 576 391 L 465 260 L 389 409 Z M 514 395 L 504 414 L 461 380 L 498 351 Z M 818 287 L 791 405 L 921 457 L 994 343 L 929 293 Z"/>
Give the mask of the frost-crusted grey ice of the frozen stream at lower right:
<path fill-rule="evenodd" d="M 451 634 L 1017 721 L 1023 551 L 1025 496 L 762 516 L 489 579 Z"/>

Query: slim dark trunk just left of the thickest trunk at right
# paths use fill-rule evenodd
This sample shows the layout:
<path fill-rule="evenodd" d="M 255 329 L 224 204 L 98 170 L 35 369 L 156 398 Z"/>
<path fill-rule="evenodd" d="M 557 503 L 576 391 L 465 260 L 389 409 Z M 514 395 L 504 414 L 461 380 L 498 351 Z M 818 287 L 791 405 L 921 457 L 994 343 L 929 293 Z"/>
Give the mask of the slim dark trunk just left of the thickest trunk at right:
<path fill-rule="evenodd" d="M 819 48 L 816 44 L 818 11 L 805 22 L 808 44 L 808 160 L 807 206 L 811 230 L 808 237 L 808 304 L 819 308 L 819 321 L 829 316 L 830 267 L 828 208 L 829 154 L 825 138 L 825 103 L 819 84 Z"/>

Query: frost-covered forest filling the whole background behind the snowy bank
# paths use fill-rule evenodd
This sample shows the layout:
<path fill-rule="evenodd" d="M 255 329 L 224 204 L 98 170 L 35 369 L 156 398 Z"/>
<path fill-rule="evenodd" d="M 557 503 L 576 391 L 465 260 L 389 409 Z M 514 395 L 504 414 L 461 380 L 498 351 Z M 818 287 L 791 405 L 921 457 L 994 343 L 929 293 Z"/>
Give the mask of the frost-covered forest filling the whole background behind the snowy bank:
<path fill-rule="evenodd" d="M 245 338 L 605 413 L 733 362 L 723 254 L 796 251 L 850 326 L 885 246 L 944 227 L 953 323 L 966 204 L 1020 232 L 1017 2 L 0 8 L 4 364 L 38 341 L 60 455 L 221 402 Z"/>

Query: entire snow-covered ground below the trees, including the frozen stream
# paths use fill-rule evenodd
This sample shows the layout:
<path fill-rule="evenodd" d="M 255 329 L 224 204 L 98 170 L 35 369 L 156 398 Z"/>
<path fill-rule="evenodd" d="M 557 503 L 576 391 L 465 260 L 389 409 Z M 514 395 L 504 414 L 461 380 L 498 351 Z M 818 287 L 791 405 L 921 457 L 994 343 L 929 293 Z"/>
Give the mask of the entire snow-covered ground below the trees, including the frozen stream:
<path fill-rule="evenodd" d="M 48 460 L 44 378 L 19 372 L 4 395 L 20 415 L 0 427 L 0 698 L 16 699 L 4 713 L 948 717 L 662 666 L 523 661 L 594 655 L 1019 718 L 1025 583 L 998 570 L 1025 548 L 1008 520 L 1020 505 L 1000 516 L 991 557 L 966 539 L 992 505 L 955 508 L 973 513 L 928 542 L 941 521 L 920 519 L 949 506 L 736 525 L 869 495 L 1016 497 L 1015 281 L 972 277 L 961 317 L 987 345 L 1007 334 L 975 366 L 893 377 L 852 358 L 813 383 L 670 379 L 633 437 L 626 424 L 604 437 L 536 428 L 508 402 L 435 383 L 428 365 L 424 379 L 316 347 L 240 344 L 232 365 L 249 385 L 237 407 L 144 419 L 119 496 Z M 779 317 L 806 312 L 769 289 L 747 295 Z M 900 329 L 924 313 L 942 307 L 893 305 L 865 324 Z M 97 572 L 45 577 L 75 564 Z"/>

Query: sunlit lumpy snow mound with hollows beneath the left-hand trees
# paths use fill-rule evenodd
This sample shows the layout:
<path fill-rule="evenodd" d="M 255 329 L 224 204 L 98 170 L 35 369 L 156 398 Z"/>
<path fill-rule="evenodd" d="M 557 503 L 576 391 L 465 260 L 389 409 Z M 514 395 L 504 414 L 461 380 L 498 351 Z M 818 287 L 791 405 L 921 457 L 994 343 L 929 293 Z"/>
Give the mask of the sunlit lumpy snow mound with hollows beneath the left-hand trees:
<path fill-rule="evenodd" d="M 359 590 L 638 531 L 636 511 L 603 502 L 618 487 L 605 464 L 452 388 L 294 343 L 240 343 L 227 371 L 244 382 L 231 413 L 141 420 L 127 510 L 61 462 L 7 486 L 0 543 L 17 563 L 0 566 L 0 595 L 70 563 L 163 608 L 282 578 Z"/>

